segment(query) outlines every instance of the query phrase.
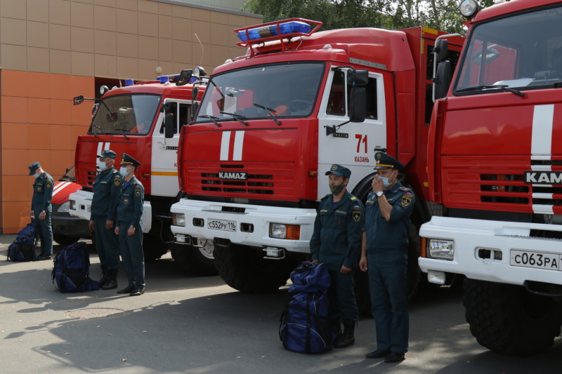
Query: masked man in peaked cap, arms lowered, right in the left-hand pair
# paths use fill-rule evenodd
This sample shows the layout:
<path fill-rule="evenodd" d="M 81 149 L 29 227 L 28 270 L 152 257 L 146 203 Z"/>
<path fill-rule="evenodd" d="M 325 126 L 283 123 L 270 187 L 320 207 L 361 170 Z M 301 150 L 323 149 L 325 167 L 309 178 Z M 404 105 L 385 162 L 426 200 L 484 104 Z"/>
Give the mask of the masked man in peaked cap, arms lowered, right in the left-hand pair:
<path fill-rule="evenodd" d="M 145 293 L 145 258 L 143 254 L 143 203 L 145 189 L 135 178 L 135 171 L 141 163 L 122 154 L 119 173 L 123 177 L 119 206 L 117 206 L 117 225 L 115 234 L 119 235 L 119 252 L 129 279 L 126 288 L 117 293 L 138 296 Z"/>

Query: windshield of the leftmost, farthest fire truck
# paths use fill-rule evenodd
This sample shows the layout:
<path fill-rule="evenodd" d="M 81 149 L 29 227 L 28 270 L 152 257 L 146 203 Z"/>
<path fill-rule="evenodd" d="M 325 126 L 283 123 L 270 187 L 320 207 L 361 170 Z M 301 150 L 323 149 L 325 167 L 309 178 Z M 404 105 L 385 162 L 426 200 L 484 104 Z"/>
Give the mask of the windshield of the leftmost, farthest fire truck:
<path fill-rule="evenodd" d="M 159 110 L 160 95 L 115 95 L 104 98 L 89 134 L 145 135 Z"/>

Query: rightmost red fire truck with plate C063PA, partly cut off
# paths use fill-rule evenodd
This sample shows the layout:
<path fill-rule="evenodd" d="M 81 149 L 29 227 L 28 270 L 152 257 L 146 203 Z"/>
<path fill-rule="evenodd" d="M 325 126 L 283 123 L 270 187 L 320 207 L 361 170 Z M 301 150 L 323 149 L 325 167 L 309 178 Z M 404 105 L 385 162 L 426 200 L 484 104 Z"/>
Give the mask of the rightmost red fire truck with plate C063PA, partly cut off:
<path fill-rule="evenodd" d="M 429 196 L 443 216 L 421 226 L 419 266 L 434 283 L 466 276 L 481 345 L 533 354 L 562 324 L 562 2 L 478 11 L 465 0 L 461 11 L 469 34 L 429 128 Z"/>

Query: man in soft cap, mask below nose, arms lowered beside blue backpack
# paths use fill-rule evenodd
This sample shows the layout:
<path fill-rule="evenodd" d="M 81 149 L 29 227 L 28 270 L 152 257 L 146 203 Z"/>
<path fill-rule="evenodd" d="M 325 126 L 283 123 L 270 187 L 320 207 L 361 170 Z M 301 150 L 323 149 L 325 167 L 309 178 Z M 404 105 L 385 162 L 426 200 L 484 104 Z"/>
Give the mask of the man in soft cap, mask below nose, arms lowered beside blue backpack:
<path fill-rule="evenodd" d="M 311 238 L 311 254 L 313 262 L 322 262 L 328 267 L 332 279 L 328 293 L 330 323 L 338 335 L 334 347 L 344 348 L 355 343 L 359 312 L 353 293 L 353 270 L 361 251 L 365 214 L 361 201 L 346 190 L 351 171 L 334 164 L 326 175 L 329 175 L 332 193 L 320 200 Z"/>

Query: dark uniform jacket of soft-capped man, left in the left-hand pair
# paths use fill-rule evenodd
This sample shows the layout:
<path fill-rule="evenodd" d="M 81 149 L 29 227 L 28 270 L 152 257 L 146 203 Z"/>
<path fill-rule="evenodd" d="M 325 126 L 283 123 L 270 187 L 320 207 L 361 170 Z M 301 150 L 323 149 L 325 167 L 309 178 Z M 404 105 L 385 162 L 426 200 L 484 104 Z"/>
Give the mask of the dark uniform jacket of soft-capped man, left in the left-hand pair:
<path fill-rule="evenodd" d="M 91 217 L 94 215 L 103 215 L 107 220 L 115 220 L 117 215 L 117 204 L 119 203 L 119 194 L 121 193 L 121 175 L 110 168 L 102 171 L 93 182 L 93 199 L 91 206 Z"/>

